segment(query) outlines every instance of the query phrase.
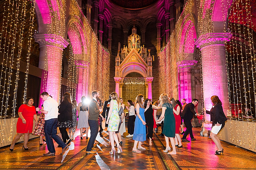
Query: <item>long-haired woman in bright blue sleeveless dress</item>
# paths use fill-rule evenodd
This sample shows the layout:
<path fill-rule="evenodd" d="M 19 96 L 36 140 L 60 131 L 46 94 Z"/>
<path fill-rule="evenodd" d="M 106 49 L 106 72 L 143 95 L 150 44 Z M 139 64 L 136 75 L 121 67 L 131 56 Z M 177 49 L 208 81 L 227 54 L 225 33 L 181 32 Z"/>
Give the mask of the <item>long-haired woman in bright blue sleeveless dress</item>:
<path fill-rule="evenodd" d="M 142 94 L 139 94 L 136 97 L 135 101 L 135 109 L 136 109 L 136 119 L 135 119 L 135 124 L 134 124 L 134 133 L 133 133 L 133 140 L 134 140 L 134 145 L 133 145 L 133 152 L 140 153 L 141 151 L 138 149 L 143 149 L 145 150 L 146 148 L 143 148 L 141 146 L 141 143 L 146 140 L 146 122 L 145 122 L 145 115 L 144 115 L 144 107 L 142 105 L 142 102 L 144 100 L 144 97 Z M 138 145 L 139 143 L 139 145 Z M 138 149 L 137 149 L 138 145 Z"/>

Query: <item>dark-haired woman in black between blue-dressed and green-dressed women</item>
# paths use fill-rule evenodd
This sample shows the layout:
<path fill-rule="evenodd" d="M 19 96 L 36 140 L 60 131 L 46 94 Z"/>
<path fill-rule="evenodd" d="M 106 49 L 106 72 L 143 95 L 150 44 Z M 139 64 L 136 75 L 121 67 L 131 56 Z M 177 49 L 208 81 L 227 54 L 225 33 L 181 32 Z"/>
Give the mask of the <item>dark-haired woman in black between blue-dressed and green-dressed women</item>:
<path fill-rule="evenodd" d="M 145 108 L 145 120 L 146 126 L 148 127 L 148 135 L 147 138 L 149 139 L 149 146 L 152 146 L 152 137 L 153 137 L 153 129 L 154 129 L 154 117 L 153 117 L 153 109 L 161 109 L 161 107 L 157 107 L 155 105 L 150 104 L 150 100 L 146 99 L 144 102 Z"/>

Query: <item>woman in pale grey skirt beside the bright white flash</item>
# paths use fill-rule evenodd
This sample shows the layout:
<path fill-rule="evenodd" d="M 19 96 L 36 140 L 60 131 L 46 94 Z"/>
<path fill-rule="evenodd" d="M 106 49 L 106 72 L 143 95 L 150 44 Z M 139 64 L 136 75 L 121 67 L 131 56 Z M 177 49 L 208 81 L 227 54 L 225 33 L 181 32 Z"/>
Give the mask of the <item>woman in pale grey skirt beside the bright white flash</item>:
<path fill-rule="evenodd" d="M 86 97 L 82 96 L 81 101 L 78 104 L 78 123 L 77 129 L 80 129 L 81 139 L 83 139 L 83 127 L 86 131 L 86 139 L 88 139 L 89 123 L 88 123 L 88 105 L 86 104 Z"/>

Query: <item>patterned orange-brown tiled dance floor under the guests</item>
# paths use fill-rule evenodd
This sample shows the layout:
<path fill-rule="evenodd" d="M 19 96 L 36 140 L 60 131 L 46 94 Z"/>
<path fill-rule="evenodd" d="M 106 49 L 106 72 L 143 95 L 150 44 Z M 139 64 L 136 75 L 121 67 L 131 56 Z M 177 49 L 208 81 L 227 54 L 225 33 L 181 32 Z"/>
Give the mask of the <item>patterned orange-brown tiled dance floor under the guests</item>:
<path fill-rule="evenodd" d="M 141 153 L 132 152 L 133 140 L 122 137 L 123 153 L 109 155 L 111 145 L 107 133 L 103 138 L 97 136 L 97 154 L 86 155 L 86 145 L 89 139 L 80 140 L 80 131 L 70 144 L 64 155 L 60 155 L 61 148 L 55 143 L 56 156 L 44 157 L 47 146 L 39 146 L 39 139 L 31 139 L 29 150 L 22 150 L 23 143 L 17 143 L 14 151 L 9 146 L 0 148 L 0 169 L 58 169 L 58 170 L 105 170 L 105 169 L 182 169 L 182 170 L 243 170 L 256 169 L 256 154 L 243 148 L 221 141 L 224 155 L 214 155 L 217 150 L 211 139 L 199 135 L 200 128 L 193 128 L 196 141 L 183 142 L 183 148 L 176 148 L 177 155 L 168 155 L 165 149 L 164 137 L 153 134 L 153 145 L 148 141 L 143 145 L 146 150 Z M 190 139 L 190 138 L 188 138 Z"/>

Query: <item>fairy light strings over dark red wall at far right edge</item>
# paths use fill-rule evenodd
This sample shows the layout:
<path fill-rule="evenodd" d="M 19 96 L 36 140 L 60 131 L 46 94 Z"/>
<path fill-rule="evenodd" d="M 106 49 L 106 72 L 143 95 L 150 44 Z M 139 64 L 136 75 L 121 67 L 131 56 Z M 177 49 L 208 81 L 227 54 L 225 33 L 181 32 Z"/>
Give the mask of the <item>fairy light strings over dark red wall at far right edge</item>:
<path fill-rule="evenodd" d="M 255 27 L 252 24 L 250 0 L 234 1 L 230 7 L 228 27 L 224 31 L 233 34 L 226 42 L 226 64 L 229 81 L 229 115 L 236 120 L 254 121 L 244 118 L 245 108 L 254 112 L 256 108 L 256 64 Z"/>

